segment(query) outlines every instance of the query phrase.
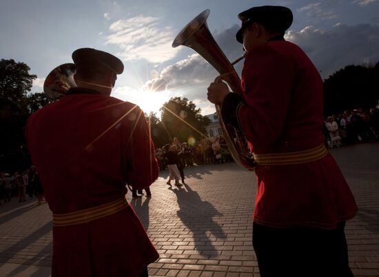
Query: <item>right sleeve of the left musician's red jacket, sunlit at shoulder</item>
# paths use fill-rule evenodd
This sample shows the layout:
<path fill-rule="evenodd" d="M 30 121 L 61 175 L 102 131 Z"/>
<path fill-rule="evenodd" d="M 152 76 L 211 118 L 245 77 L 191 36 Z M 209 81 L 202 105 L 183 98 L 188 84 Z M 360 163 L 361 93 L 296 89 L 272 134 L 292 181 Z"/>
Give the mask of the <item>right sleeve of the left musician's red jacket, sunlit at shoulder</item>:
<path fill-rule="evenodd" d="M 132 120 L 130 120 L 132 119 Z M 130 117 L 130 137 L 125 137 L 124 163 L 127 184 L 137 189 L 147 188 L 158 177 L 158 162 L 154 156 L 154 144 L 150 139 L 145 115 L 135 107 Z"/>

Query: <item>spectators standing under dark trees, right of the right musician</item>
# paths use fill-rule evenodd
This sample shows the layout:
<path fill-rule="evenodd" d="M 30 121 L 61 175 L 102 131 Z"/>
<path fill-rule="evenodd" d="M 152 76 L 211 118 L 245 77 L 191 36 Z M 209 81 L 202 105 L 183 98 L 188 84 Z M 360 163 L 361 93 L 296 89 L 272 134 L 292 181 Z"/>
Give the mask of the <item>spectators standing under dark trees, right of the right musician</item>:
<path fill-rule="evenodd" d="M 329 148 L 379 140 L 379 109 L 354 109 L 325 119 L 325 144 Z"/>

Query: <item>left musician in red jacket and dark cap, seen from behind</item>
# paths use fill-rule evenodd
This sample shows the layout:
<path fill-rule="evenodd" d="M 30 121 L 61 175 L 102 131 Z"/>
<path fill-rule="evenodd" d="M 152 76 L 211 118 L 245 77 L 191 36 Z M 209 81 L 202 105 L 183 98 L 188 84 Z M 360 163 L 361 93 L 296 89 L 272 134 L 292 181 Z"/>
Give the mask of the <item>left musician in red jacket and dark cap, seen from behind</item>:
<path fill-rule="evenodd" d="M 126 184 L 158 177 L 143 111 L 110 96 L 119 58 L 96 49 L 72 54 L 77 87 L 28 120 L 26 137 L 53 213 L 52 276 L 147 276 L 158 258 Z"/>

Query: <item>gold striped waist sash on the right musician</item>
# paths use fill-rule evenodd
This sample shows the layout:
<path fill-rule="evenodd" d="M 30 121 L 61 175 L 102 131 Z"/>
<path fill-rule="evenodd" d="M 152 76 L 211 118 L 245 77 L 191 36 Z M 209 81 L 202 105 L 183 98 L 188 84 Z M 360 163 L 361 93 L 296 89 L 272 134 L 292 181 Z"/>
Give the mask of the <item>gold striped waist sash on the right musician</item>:
<path fill-rule="evenodd" d="M 258 166 L 282 166 L 287 164 L 305 164 L 314 162 L 327 155 L 325 144 L 305 151 L 277 153 L 277 154 L 254 154 Z"/>

